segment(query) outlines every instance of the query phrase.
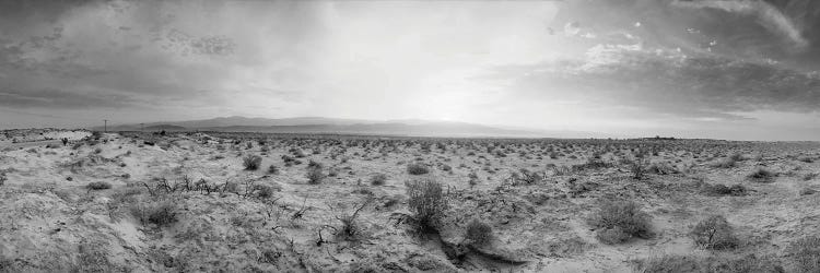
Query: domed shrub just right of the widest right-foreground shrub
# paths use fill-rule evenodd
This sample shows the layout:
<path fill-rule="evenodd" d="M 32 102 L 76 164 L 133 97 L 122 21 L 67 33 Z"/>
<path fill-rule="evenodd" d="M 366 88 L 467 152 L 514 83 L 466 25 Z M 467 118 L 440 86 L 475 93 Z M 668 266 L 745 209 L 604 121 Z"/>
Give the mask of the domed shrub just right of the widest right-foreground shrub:
<path fill-rule="evenodd" d="M 731 225 L 722 215 L 713 215 L 701 221 L 689 236 L 695 245 L 705 249 L 731 249 L 738 245 Z"/>

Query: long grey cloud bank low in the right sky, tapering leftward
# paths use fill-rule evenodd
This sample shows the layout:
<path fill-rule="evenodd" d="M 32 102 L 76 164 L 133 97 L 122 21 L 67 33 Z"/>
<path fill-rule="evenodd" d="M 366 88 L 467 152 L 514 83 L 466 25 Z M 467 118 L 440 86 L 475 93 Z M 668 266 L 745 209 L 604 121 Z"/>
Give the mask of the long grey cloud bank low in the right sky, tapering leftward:
<path fill-rule="evenodd" d="M 507 66 L 485 80 L 513 96 L 561 97 L 652 115 L 721 120 L 743 112 L 817 112 L 820 74 L 714 55 L 601 45 L 583 59 Z"/>

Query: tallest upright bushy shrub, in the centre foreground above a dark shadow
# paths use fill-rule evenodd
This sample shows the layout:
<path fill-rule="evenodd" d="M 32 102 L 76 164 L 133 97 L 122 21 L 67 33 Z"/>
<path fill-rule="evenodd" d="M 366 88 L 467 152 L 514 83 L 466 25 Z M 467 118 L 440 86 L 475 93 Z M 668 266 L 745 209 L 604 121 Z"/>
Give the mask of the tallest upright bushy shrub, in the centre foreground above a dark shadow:
<path fill-rule="evenodd" d="M 447 199 L 442 185 L 435 180 L 411 180 L 407 187 L 408 206 L 422 230 L 435 230 L 441 224 Z"/>

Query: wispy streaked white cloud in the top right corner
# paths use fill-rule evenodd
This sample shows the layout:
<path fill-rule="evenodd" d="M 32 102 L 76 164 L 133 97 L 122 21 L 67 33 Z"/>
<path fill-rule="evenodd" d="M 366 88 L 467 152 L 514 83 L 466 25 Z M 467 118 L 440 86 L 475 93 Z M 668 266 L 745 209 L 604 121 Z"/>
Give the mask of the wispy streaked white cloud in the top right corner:
<path fill-rule="evenodd" d="M 576 0 L 561 5 L 552 27 L 577 22 L 598 37 L 593 46 L 629 37 L 646 47 L 818 69 L 819 9 L 820 1 L 811 0 Z"/>

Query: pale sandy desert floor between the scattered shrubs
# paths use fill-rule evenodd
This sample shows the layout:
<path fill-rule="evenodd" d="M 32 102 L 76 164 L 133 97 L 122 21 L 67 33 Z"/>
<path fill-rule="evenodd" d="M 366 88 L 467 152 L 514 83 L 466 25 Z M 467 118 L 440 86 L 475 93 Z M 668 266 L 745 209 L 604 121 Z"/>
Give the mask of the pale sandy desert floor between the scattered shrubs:
<path fill-rule="evenodd" d="M 10 135 L 26 133 L 40 135 Z M 754 254 L 792 272 L 788 246 L 820 230 L 820 194 L 801 194 L 820 190 L 812 177 L 820 164 L 810 161 L 820 155 L 816 143 L 44 135 L 71 142 L 0 145 L 0 272 L 633 272 L 641 261 L 665 254 Z M 425 142 L 444 150 L 426 150 Z M 617 162 L 636 150 L 652 150 L 646 164 L 675 174 L 633 178 Z M 713 165 L 733 153 L 743 157 L 736 166 Z M 260 155 L 261 167 L 245 169 L 247 155 Z M 302 163 L 286 166 L 283 155 Z M 560 171 L 595 155 L 611 164 Z M 328 175 L 318 185 L 306 178 L 309 161 Z M 408 174 L 413 162 L 431 173 Z M 751 181 L 747 175 L 757 168 L 776 176 Z M 522 169 L 543 178 L 509 179 Z M 375 174 L 386 175 L 386 182 L 371 185 Z M 470 174 L 478 176 L 475 185 Z M 186 179 L 215 190 L 183 189 Z M 415 232 L 407 221 L 412 212 L 405 181 L 413 179 L 445 187 L 448 206 L 437 233 Z M 112 187 L 90 190 L 92 182 Z M 701 190 L 714 183 L 742 185 L 747 194 Z M 272 190 L 269 195 L 254 191 L 260 185 Z M 602 244 L 587 218 L 605 198 L 639 203 L 652 216 L 652 238 Z M 159 204 L 169 204 L 175 219 L 157 224 L 136 213 Z M 339 217 L 360 204 L 359 233 L 342 236 Z M 733 225 L 741 241 L 736 249 L 702 249 L 688 236 L 714 214 Z M 489 245 L 465 245 L 465 226 L 473 218 L 492 227 Z"/>

